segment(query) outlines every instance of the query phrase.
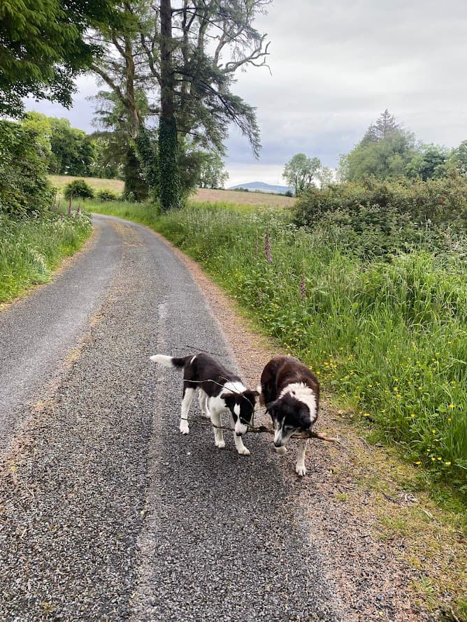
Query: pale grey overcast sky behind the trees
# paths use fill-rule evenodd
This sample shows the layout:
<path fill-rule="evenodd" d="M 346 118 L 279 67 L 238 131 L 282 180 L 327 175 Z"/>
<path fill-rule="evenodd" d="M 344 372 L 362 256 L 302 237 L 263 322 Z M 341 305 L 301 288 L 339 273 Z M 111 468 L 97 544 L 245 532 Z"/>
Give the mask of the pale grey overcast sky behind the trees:
<path fill-rule="evenodd" d="M 234 92 L 257 108 L 261 157 L 233 129 L 226 183 L 284 184 L 296 153 L 337 166 L 385 108 L 424 143 L 467 139 L 467 0 L 274 0 L 257 29 L 271 41 L 267 68 L 238 74 Z M 79 80 L 68 117 L 92 131 L 92 78 Z"/>

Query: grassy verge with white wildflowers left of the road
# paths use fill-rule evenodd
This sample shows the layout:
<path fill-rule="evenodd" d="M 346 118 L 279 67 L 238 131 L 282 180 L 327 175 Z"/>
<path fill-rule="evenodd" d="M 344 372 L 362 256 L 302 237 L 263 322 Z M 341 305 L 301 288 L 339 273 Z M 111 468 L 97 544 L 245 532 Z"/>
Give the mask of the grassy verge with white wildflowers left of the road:
<path fill-rule="evenodd" d="M 91 230 L 88 215 L 0 215 L 0 303 L 50 280 L 60 259 L 76 252 Z"/>

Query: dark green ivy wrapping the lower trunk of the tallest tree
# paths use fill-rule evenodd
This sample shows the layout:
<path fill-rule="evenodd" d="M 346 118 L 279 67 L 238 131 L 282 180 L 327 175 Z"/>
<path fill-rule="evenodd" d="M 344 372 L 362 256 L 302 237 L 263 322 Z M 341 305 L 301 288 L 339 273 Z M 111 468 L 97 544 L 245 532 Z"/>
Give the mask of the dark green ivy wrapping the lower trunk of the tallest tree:
<path fill-rule="evenodd" d="M 161 210 L 180 208 L 177 124 L 174 118 L 159 119 L 159 166 L 161 171 Z"/>

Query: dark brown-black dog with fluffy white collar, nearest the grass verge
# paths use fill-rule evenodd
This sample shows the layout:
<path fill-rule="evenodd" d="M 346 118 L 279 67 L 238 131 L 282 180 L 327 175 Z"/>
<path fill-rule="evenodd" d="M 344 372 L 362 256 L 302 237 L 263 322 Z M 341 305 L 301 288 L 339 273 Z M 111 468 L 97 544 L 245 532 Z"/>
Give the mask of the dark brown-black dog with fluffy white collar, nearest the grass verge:
<path fill-rule="evenodd" d="M 293 356 L 275 356 L 261 374 L 261 403 L 274 424 L 274 446 L 285 454 L 285 445 L 294 432 L 306 431 L 318 416 L 319 382 L 301 361 Z M 305 475 L 308 439 L 299 442 L 295 465 L 297 475 Z"/>

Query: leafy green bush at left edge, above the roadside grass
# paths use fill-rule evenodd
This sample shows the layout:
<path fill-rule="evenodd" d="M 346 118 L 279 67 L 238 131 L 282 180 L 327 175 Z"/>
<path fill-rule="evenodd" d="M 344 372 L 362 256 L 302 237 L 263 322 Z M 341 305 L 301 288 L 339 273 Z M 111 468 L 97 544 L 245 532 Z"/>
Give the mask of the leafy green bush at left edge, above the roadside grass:
<path fill-rule="evenodd" d="M 0 120 L 0 214 L 22 217 L 50 208 L 54 190 L 47 179 L 49 157 L 41 120 Z"/>

